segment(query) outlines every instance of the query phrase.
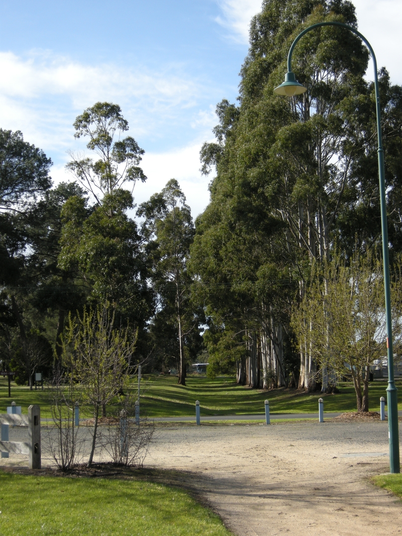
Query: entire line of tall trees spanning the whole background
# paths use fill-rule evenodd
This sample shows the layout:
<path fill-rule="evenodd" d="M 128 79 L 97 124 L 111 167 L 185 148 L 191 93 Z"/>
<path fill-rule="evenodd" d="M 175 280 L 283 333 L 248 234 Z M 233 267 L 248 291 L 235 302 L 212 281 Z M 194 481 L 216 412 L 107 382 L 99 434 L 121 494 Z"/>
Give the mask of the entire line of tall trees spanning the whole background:
<path fill-rule="evenodd" d="M 237 103 L 218 104 L 215 142 L 200 152 L 215 177 L 195 224 L 174 179 L 135 207 L 143 150 L 116 105 L 77 117 L 95 157 L 71 154 L 75 181 L 53 189 L 50 160 L 1 132 L 3 367 L 25 381 L 40 359 L 58 369 L 68 316 L 106 304 L 137 337 L 133 362 L 175 367 L 182 384 L 197 356 L 252 388 L 331 391 L 349 374 L 367 409 L 370 367 L 386 353 L 368 50 L 317 28 L 293 54 L 308 91 L 273 93 L 294 38 L 321 21 L 358 24 L 344 0 L 264 0 L 251 20 Z M 378 74 L 399 352 L 402 88 Z"/>

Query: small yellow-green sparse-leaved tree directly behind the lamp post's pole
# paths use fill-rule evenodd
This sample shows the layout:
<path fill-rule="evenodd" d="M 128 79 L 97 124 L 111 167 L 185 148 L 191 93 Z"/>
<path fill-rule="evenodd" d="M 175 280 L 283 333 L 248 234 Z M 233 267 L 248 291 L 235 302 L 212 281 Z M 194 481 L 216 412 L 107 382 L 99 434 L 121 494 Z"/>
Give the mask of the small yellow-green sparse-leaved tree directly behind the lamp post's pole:
<path fill-rule="evenodd" d="M 392 333 L 401 344 L 400 270 L 391 282 Z M 382 265 L 370 255 L 355 254 L 349 264 L 334 254 L 331 262 L 314 264 L 310 286 L 293 312 L 293 327 L 321 368 L 339 380 L 351 374 L 359 411 L 368 411 L 370 367 L 386 355 Z M 376 361 L 377 360 L 377 361 Z M 363 389 L 362 389 L 363 386 Z"/>

